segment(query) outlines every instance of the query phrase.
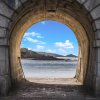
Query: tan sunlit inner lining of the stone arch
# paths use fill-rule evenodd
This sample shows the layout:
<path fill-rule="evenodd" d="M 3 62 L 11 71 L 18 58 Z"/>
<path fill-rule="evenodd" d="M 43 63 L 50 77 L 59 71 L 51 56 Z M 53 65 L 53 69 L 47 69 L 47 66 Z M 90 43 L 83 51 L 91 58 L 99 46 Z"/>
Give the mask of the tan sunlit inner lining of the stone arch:
<path fill-rule="evenodd" d="M 11 56 L 11 67 L 12 67 L 12 78 L 13 80 L 20 80 L 22 75 L 22 70 L 20 66 L 20 43 L 25 31 L 32 25 L 40 21 L 44 20 L 54 20 L 61 23 L 64 23 L 68 27 L 70 27 L 76 35 L 76 38 L 79 43 L 79 63 L 76 71 L 76 78 L 81 83 L 84 83 L 86 70 L 87 70 L 87 62 L 88 62 L 88 49 L 89 49 L 89 40 L 86 35 L 86 31 L 83 26 L 72 16 L 66 15 L 55 15 L 54 13 L 50 16 L 47 12 L 46 18 L 44 18 L 44 14 L 39 13 L 35 17 L 32 15 L 32 12 L 28 14 L 28 16 L 24 16 L 17 24 L 14 30 L 12 31 L 12 35 L 10 38 L 10 56 Z M 27 18 L 28 17 L 28 18 Z M 86 49 L 84 49 L 86 48 Z"/>

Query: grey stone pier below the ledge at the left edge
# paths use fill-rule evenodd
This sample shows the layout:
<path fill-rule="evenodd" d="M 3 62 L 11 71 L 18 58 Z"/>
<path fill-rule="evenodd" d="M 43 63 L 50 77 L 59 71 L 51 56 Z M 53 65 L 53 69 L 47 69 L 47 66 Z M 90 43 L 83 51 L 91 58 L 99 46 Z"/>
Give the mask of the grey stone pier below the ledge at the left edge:
<path fill-rule="evenodd" d="M 0 93 L 6 94 L 10 87 L 8 49 L 0 46 Z"/>

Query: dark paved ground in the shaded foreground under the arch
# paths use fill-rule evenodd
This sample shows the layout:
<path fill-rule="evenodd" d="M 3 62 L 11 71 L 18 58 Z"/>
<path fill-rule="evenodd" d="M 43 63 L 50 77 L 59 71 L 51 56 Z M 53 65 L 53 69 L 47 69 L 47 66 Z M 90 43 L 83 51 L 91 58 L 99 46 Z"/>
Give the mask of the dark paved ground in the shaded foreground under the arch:
<path fill-rule="evenodd" d="M 21 82 L 17 89 L 0 100 L 100 100 L 82 85 Z"/>

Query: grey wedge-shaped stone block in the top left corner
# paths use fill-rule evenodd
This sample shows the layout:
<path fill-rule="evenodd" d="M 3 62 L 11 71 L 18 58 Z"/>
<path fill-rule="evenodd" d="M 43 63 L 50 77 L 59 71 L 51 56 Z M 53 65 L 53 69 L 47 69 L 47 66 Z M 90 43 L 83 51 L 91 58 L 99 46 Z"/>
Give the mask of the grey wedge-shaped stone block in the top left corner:
<path fill-rule="evenodd" d="M 13 14 L 13 10 L 8 8 L 8 6 L 6 6 L 2 1 L 0 1 L 0 14 L 3 14 L 10 18 Z"/>

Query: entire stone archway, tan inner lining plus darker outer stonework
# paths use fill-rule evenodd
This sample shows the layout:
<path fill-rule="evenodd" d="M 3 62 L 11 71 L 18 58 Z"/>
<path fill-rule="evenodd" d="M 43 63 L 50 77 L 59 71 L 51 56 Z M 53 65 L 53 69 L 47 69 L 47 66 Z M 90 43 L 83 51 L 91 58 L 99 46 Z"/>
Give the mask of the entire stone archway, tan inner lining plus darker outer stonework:
<path fill-rule="evenodd" d="M 9 1 L 9 0 L 8 0 Z M 26 1 L 26 2 L 24 2 Z M 78 2 L 77 2 L 78 1 Z M 1 41 L 5 41 L 5 44 L 9 44 L 9 47 L 2 47 L 2 50 L 6 50 L 8 53 L 8 73 L 7 77 L 4 78 L 6 83 L 3 84 L 3 79 L 1 77 L 2 86 L 6 86 L 5 90 L 1 89 L 1 92 L 6 92 L 10 85 L 7 85 L 8 81 L 15 83 L 19 81 L 23 75 L 20 68 L 18 57 L 20 57 L 20 42 L 25 33 L 25 31 L 34 23 L 50 19 L 62 22 L 68 25 L 74 32 L 79 42 L 79 65 L 77 68 L 76 78 L 81 81 L 84 85 L 92 88 L 99 93 L 97 88 L 100 79 L 96 67 L 99 69 L 99 41 L 96 38 L 99 38 L 99 21 L 92 23 L 93 19 L 98 19 L 97 15 L 94 12 L 98 12 L 99 2 L 92 0 L 21 0 L 14 1 L 10 4 L 10 1 L 1 0 L 1 5 L 5 5 L 5 9 L 10 9 L 8 15 L 2 10 L 1 16 L 4 17 L 4 22 L 2 21 L 1 28 L 7 28 L 7 36 Z M 93 4 L 95 3 L 95 6 Z M 7 8 L 8 7 L 8 8 Z M 96 9 L 96 10 L 94 10 Z M 99 9 L 99 8 L 98 8 Z M 10 15 L 10 12 L 13 12 L 13 16 Z M 91 10 L 91 15 L 89 11 Z M 94 10 L 94 12 L 92 12 Z M 3 15 L 5 14 L 5 15 Z M 9 18 L 10 16 L 10 18 Z M 0 18 L 2 18 L 0 17 Z M 8 21 L 10 20 L 10 21 Z M 5 23 L 9 22 L 9 25 L 6 26 Z M 92 24 L 91 24 L 92 23 Z M 95 25 L 96 24 L 96 25 Z M 96 30 L 97 29 L 97 30 Z M 95 35 L 95 32 L 96 35 Z M 95 40 L 95 41 L 94 41 Z M 8 51 L 8 52 L 7 52 Z M 10 54 L 9 54 L 10 53 Z M 6 57 L 6 55 L 5 55 Z M 6 60 L 5 60 L 6 61 Z M 6 62 L 7 62 L 6 61 Z M 1 63 L 2 64 L 2 63 Z M 5 70 L 5 69 L 4 69 Z M 10 74 L 11 73 L 11 74 Z M 4 74 L 4 73 L 3 73 Z M 4 74 L 6 75 L 6 74 Z M 5 77 L 5 76 L 4 76 Z M 2 93 L 3 93 L 2 92 Z"/>

